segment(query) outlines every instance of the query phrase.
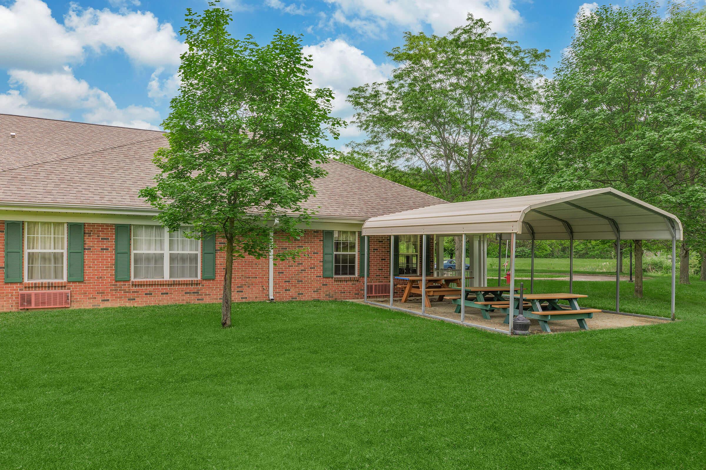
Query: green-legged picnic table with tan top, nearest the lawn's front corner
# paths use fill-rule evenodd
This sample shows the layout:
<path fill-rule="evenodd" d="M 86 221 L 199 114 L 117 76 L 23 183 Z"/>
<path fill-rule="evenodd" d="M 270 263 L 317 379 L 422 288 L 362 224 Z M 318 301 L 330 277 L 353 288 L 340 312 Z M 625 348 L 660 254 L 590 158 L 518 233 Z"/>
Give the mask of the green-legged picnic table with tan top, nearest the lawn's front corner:
<path fill-rule="evenodd" d="M 527 303 L 523 302 L 522 315 L 528 319 L 539 321 L 539 326 L 545 333 L 551 333 L 548 321 L 553 320 L 576 320 L 579 328 L 587 330 L 586 319 L 592 319 L 593 314 L 601 311 L 600 309 L 582 309 L 578 305 L 578 299 L 585 299 L 587 295 L 568 294 L 566 292 L 550 293 L 550 294 L 525 294 L 522 295 L 524 301 L 528 301 L 529 309 L 525 310 Z M 559 301 L 567 300 L 568 306 L 560 304 Z M 515 296 L 513 315 L 520 314 L 519 309 L 520 296 Z M 499 307 L 499 305 L 498 305 Z M 509 301 L 503 304 L 501 311 L 505 313 L 505 323 L 510 321 Z"/>

